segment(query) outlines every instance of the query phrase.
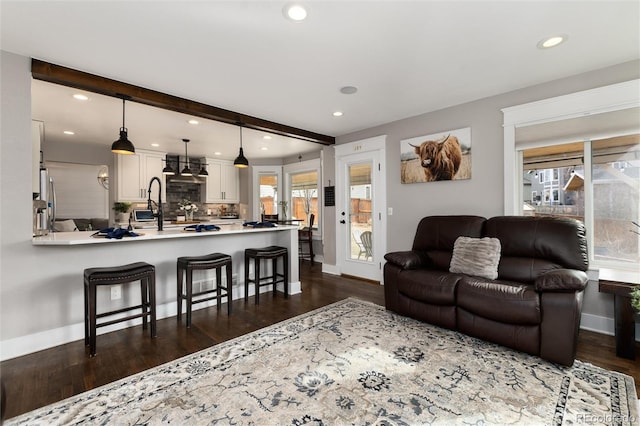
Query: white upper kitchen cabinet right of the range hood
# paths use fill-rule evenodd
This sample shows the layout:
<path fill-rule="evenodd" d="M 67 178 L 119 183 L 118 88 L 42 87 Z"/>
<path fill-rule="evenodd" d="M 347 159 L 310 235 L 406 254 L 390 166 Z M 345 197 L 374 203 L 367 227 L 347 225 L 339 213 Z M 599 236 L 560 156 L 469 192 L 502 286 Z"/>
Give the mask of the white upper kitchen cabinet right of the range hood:
<path fill-rule="evenodd" d="M 239 203 L 240 174 L 232 161 L 206 158 L 207 176 L 205 203 Z"/>

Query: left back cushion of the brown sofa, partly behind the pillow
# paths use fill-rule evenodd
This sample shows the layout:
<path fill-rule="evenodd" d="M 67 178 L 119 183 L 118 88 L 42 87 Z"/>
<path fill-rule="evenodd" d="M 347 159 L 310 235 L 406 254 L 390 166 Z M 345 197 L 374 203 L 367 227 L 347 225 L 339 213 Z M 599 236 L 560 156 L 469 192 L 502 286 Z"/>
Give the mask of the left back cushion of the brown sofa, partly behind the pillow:
<path fill-rule="evenodd" d="M 412 250 L 426 253 L 432 268 L 448 271 L 456 239 L 480 238 L 485 221 L 480 216 L 427 216 L 418 224 Z"/>

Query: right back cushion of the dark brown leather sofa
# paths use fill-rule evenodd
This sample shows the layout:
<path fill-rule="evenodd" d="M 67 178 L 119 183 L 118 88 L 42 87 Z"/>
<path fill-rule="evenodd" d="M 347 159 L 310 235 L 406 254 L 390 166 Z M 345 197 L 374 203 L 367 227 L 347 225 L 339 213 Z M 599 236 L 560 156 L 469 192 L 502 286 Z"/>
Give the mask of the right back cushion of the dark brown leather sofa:
<path fill-rule="evenodd" d="M 585 227 L 575 219 L 497 216 L 486 221 L 484 236 L 500 240 L 499 279 L 533 283 L 553 269 L 589 267 Z"/>

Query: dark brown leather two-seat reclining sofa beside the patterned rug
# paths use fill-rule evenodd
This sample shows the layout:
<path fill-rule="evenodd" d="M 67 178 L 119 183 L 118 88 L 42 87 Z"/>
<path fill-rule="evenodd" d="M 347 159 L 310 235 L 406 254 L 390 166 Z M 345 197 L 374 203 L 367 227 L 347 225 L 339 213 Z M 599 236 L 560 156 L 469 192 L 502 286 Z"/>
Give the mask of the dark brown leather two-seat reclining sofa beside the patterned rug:
<path fill-rule="evenodd" d="M 495 280 L 449 272 L 459 236 L 500 240 Z M 575 359 L 587 242 L 582 223 L 550 217 L 429 216 L 411 251 L 385 255 L 388 310 L 562 365 Z"/>

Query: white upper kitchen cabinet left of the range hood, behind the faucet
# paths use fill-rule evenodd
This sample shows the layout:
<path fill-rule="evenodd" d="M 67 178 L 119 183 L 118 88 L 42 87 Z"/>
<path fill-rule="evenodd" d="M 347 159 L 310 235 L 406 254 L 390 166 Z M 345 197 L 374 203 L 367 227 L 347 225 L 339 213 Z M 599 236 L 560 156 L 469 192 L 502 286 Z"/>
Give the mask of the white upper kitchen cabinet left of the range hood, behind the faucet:
<path fill-rule="evenodd" d="M 147 201 L 149 182 L 153 177 L 162 182 L 162 199 L 166 201 L 166 185 L 162 169 L 166 154 L 156 151 L 137 149 L 133 155 L 116 155 L 116 174 L 118 185 L 116 201 Z M 158 184 L 151 189 L 151 199 L 158 199 Z"/>

